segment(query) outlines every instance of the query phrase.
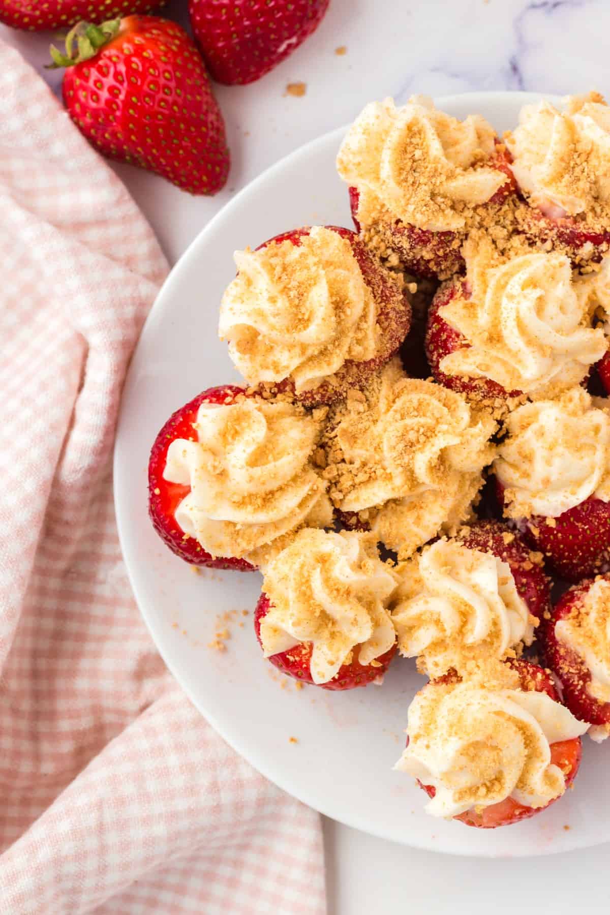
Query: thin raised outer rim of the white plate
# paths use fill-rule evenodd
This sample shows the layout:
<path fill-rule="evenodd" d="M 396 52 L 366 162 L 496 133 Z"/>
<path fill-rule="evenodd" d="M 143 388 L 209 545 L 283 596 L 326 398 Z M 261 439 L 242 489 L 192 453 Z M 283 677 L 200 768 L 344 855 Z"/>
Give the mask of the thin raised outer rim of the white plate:
<path fill-rule="evenodd" d="M 485 92 L 485 91 L 460 92 L 460 93 L 455 93 L 455 94 L 451 94 L 451 95 L 435 96 L 434 102 L 439 108 L 442 108 L 444 106 L 451 108 L 452 106 L 454 106 L 456 104 L 462 104 L 464 102 L 468 102 L 468 104 L 473 105 L 473 108 L 476 111 L 476 108 L 474 106 L 476 106 L 476 104 L 477 104 L 476 100 L 480 99 L 480 98 L 484 98 L 485 104 L 487 105 L 489 103 L 493 104 L 493 102 L 495 102 L 495 101 L 498 101 L 499 104 L 502 104 L 502 103 L 506 102 L 507 99 L 515 100 L 515 102 L 517 102 L 519 100 L 519 102 L 521 104 L 527 103 L 527 102 L 539 101 L 540 99 L 547 99 L 551 102 L 558 102 L 561 97 L 556 94 L 549 93 L 549 92 L 520 92 L 520 91 L 511 91 L 511 90 L 498 90 L 498 91 L 490 91 L 490 92 Z M 307 156 L 310 155 L 310 153 L 313 149 L 316 149 L 319 146 L 330 144 L 331 142 L 337 142 L 337 146 L 338 146 L 338 142 L 340 141 L 342 136 L 345 135 L 346 131 L 348 130 L 348 126 L 349 126 L 348 124 L 342 125 L 342 126 L 334 128 L 333 130 L 326 131 L 326 133 L 324 133 L 322 135 L 316 136 L 314 139 L 309 140 L 304 145 L 298 146 L 292 152 L 290 152 L 286 156 L 283 156 L 282 158 L 278 159 L 276 162 L 274 162 L 269 167 L 265 168 L 259 175 L 256 176 L 256 178 L 253 178 L 247 185 L 245 185 L 245 187 L 241 188 L 238 191 L 238 193 L 235 194 L 235 196 L 232 199 L 230 199 L 223 207 L 221 207 L 220 210 L 217 213 L 215 213 L 214 216 L 209 220 L 209 222 L 206 225 L 204 225 L 200 231 L 198 231 L 198 234 L 195 236 L 195 238 L 192 240 L 192 242 L 190 242 L 187 245 L 186 250 L 180 255 L 176 264 L 173 265 L 169 274 L 166 276 L 165 282 L 159 289 L 159 292 L 157 293 L 157 296 L 155 297 L 155 301 L 145 318 L 143 328 L 140 331 L 138 341 L 134 347 L 134 352 L 132 353 L 132 360 L 134 357 L 134 353 L 136 352 L 137 348 L 140 346 L 140 341 L 141 341 L 141 339 L 143 339 L 144 334 L 146 333 L 147 329 L 150 328 L 155 323 L 156 319 L 162 313 L 162 310 L 165 307 L 164 303 L 165 303 L 166 296 L 171 296 L 173 287 L 178 282 L 178 275 L 182 274 L 182 271 L 187 269 L 187 264 L 189 264 L 191 259 L 194 256 L 196 256 L 198 248 L 202 245 L 205 245 L 209 236 L 214 235 L 217 225 L 219 223 L 221 223 L 222 221 L 225 221 L 226 219 L 230 218 L 230 215 L 233 212 L 233 210 L 239 210 L 241 208 L 243 202 L 247 201 L 247 199 L 251 195 L 256 195 L 258 188 L 261 185 L 263 185 L 272 176 L 273 173 L 276 173 L 277 170 L 281 170 L 286 167 L 292 167 L 294 162 L 298 161 L 300 158 L 303 158 L 303 157 L 306 158 Z M 130 367 L 125 376 L 124 385 L 126 385 L 126 383 L 127 383 L 130 371 L 131 371 L 131 361 L 130 361 Z M 123 385 L 123 388 L 124 388 L 124 385 Z M 124 404 L 124 400 L 123 400 L 123 396 L 122 396 L 121 404 L 120 404 L 120 408 L 119 408 L 119 415 L 118 415 L 118 419 L 117 419 L 116 435 L 115 435 L 115 440 L 114 440 L 113 452 L 112 452 L 112 479 L 113 479 L 113 481 L 116 478 L 117 473 L 119 472 L 119 465 L 121 462 L 120 453 L 121 453 L 122 429 L 123 429 L 123 423 L 124 423 L 123 404 Z M 195 707 L 198 709 L 198 712 L 202 716 L 204 716 L 204 718 L 209 722 L 210 726 L 213 727 L 214 730 L 219 734 L 219 737 L 221 737 L 223 740 L 225 740 L 230 745 L 230 747 L 235 750 L 235 752 L 240 754 L 240 756 L 243 759 L 246 759 L 246 761 L 252 766 L 253 769 L 260 772 L 264 778 L 270 780 L 280 790 L 285 791 L 287 794 L 294 797 L 297 801 L 305 804 L 305 806 L 316 810 L 318 813 L 321 813 L 322 815 L 328 817 L 329 819 L 335 820 L 338 823 L 344 823 L 345 825 L 347 825 L 348 827 L 350 827 L 352 829 L 357 829 L 360 832 L 364 832 L 366 834 L 373 835 L 377 838 L 384 839 L 385 841 L 396 842 L 397 844 L 404 845 L 405 847 L 418 848 L 418 849 L 422 849 L 424 851 L 429 851 L 429 852 L 433 852 L 435 854 L 443 854 L 443 855 L 464 856 L 466 854 L 466 856 L 468 856 L 468 857 L 474 857 L 474 858 L 480 857 L 480 858 L 488 858 L 488 859 L 498 859 L 498 858 L 503 858 L 503 857 L 513 857 L 514 856 L 514 854 L 511 854 L 510 852 L 507 852 L 505 855 L 501 851 L 492 850 L 492 849 L 490 849 L 488 853 L 485 851 L 483 851 L 483 852 L 478 851 L 476 853 L 471 854 L 467 851 L 465 852 L 465 850 L 463 848 L 460 848 L 459 842 L 455 843 L 454 848 L 447 848 L 447 847 L 435 848 L 435 847 L 433 847 L 433 845 L 431 845 L 429 842 L 426 842 L 425 840 L 423 840 L 422 842 L 416 841 L 416 838 L 413 839 L 413 837 L 411 835 L 405 836 L 404 840 L 397 839 L 393 835 L 390 837 L 390 836 L 388 836 L 388 834 L 385 834 L 381 829 L 376 829 L 374 823 L 371 825 L 369 822 L 367 822 L 367 823 L 359 822 L 358 816 L 350 817 L 348 815 L 345 815 L 344 813 L 342 813 L 340 816 L 337 816 L 336 813 L 331 813 L 328 811 L 325 803 L 316 802 L 315 804 L 312 804 L 312 802 L 310 800 L 308 800 L 304 796 L 302 796 L 301 792 L 298 790 L 298 786 L 295 788 L 294 784 L 292 782 L 290 783 L 290 785 L 287 785 L 284 782 L 284 777 L 283 777 L 282 773 L 280 772 L 280 774 L 278 775 L 278 773 L 273 770 L 273 765 L 267 764 L 268 757 L 260 756 L 259 754 L 252 755 L 252 753 L 250 751 L 248 753 L 244 752 L 243 749 L 240 747 L 239 738 L 234 738 L 233 732 L 230 730 L 230 728 L 228 729 L 227 727 L 224 727 L 224 724 L 218 720 L 218 718 L 213 714 L 213 712 L 210 712 L 209 709 L 203 707 L 200 700 L 198 699 L 198 696 L 190 688 L 187 681 L 185 679 L 183 679 L 183 677 L 180 673 L 179 667 L 174 662 L 172 662 L 169 659 L 169 657 L 167 656 L 167 653 L 166 653 L 166 650 L 164 647 L 163 635 L 160 631 L 157 632 L 157 626 L 155 624 L 155 619 L 153 618 L 152 614 L 149 614 L 147 612 L 147 609 L 145 607 L 145 601 L 140 594 L 140 589 L 139 589 L 137 581 L 134 577 L 134 568 L 128 559 L 128 556 L 131 554 L 131 550 L 125 543 L 125 539 L 124 539 L 126 531 L 123 528 L 123 522 L 122 522 L 123 511 L 122 511 L 121 496 L 119 493 L 119 488 L 116 487 L 115 485 L 113 485 L 112 491 L 113 491 L 113 505 L 114 505 L 114 511 L 115 511 L 115 516 L 116 516 L 117 531 L 118 531 L 118 535 L 119 535 L 119 543 L 121 546 L 121 552 L 123 554 L 123 561 L 124 561 L 125 568 L 127 571 L 127 576 L 129 579 L 130 586 L 132 587 L 134 599 L 137 604 L 138 610 L 140 612 L 142 619 L 144 620 L 144 625 L 146 626 L 146 629 L 150 633 L 150 636 L 155 644 L 156 651 L 159 652 L 161 658 L 163 659 L 164 663 L 166 664 L 167 670 L 172 674 L 174 679 L 177 681 L 177 684 L 180 686 L 180 688 L 183 690 L 183 692 L 187 695 L 187 698 L 189 699 L 189 701 L 193 705 L 195 705 Z M 605 841 L 607 841 L 607 840 L 598 842 L 596 840 L 588 841 L 585 839 L 584 841 L 578 842 L 575 845 L 573 845 L 572 850 L 593 847 L 596 845 L 603 845 L 603 844 L 605 844 Z M 555 854 L 561 854 L 561 853 L 564 853 L 565 851 L 566 851 L 566 849 L 563 849 L 563 848 L 554 848 L 552 846 L 550 847 L 549 845 L 541 845 L 540 850 L 537 850 L 536 852 L 530 852 L 529 854 L 531 856 L 550 856 L 550 855 L 555 855 Z"/>

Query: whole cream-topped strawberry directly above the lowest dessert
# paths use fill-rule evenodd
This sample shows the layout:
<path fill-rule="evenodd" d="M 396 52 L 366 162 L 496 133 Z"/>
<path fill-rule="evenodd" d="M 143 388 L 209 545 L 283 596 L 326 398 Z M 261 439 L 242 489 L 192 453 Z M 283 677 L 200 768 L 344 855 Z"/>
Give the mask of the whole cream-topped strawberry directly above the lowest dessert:
<path fill-rule="evenodd" d="M 519 534 L 494 522 L 424 546 L 399 567 L 391 598 L 401 654 L 433 679 L 519 656 L 551 606 L 541 555 L 531 555 Z"/>

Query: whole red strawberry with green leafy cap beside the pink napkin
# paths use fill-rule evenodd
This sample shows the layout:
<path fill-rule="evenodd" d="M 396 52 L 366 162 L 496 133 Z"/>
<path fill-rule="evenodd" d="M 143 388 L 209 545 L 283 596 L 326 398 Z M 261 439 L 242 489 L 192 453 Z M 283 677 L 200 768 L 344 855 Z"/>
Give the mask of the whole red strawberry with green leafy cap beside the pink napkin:
<path fill-rule="evenodd" d="M 191 194 L 215 194 L 230 155 L 218 102 L 183 28 L 156 16 L 80 23 L 66 53 L 70 117 L 102 155 L 153 171 Z"/>

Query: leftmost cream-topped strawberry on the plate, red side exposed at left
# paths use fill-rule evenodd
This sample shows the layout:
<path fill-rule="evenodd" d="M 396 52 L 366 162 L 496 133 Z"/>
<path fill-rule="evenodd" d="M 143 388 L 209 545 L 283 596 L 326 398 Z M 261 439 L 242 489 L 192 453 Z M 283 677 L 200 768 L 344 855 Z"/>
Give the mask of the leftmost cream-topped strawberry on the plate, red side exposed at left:
<path fill-rule="evenodd" d="M 191 565 L 246 571 L 296 528 L 330 523 L 327 483 L 312 460 L 325 415 L 233 385 L 200 393 L 151 451 L 156 532 Z"/>

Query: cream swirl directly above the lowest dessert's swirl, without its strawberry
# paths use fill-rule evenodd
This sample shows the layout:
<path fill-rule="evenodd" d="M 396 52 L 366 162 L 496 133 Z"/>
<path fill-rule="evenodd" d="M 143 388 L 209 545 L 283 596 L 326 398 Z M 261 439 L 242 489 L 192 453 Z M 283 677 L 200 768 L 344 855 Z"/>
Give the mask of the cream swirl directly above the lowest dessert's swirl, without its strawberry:
<path fill-rule="evenodd" d="M 533 640 L 533 619 L 508 563 L 438 540 L 400 570 L 391 601 L 401 654 L 431 677 L 473 662 L 502 660 Z"/>

